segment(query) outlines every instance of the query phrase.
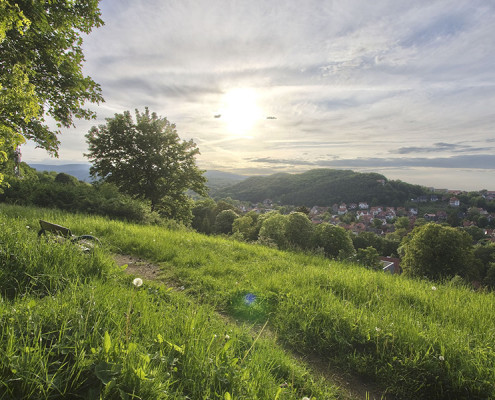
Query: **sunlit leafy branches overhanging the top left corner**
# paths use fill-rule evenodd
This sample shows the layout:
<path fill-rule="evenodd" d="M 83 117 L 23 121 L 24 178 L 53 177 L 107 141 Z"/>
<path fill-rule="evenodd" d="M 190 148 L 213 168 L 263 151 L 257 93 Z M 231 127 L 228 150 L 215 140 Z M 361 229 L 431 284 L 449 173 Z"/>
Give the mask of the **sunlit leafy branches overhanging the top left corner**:
<path fill-rule="evenodd" d="M 82 34 L 103 25 L 99 0 L 0 2 L 0 157 L 25 139 L 57 155 L 59 130 L 92 118 L 84 102 L 103 101 L 82 73 Z M 0 177 L 1 179 L 1 177 Z"/>

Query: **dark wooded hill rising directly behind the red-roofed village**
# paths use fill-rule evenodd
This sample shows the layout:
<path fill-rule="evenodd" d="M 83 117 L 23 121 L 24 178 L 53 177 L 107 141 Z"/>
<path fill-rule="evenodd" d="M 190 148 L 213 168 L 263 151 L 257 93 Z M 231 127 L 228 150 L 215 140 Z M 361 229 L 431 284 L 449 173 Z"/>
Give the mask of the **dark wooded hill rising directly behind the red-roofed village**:
<path fill-rule="evenodd" d="M 424 193 L 425 189 L 421 186 L 388 180 L 376 173 L 313 169 L 301 174 L 277 173 L 247 178 L 215 191 L 212 196 L 232 197 L 253 203 L 270 199 L 280 204 L 308 207 L 360 201 L 399 206 Z"/>

